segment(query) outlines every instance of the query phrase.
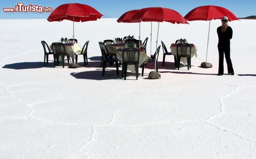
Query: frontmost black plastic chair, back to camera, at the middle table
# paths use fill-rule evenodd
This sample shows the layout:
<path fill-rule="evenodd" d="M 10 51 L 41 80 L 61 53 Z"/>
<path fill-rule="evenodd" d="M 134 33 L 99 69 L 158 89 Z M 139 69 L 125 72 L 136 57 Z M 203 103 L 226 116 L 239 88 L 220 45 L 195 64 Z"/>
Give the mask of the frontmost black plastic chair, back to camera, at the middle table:
<path fill-rule="evenodd" d="M 128 65 L 134 65 L 135 67 L 135 74 L 136 74 L 136 80 L 138 80 L 139 76 L 139 49 L 133 48 L 133 49 L 124 49 L 122 52 L 123 56 L 123 62 L 122 62 L 122 77 L 124 76 L 124 80 L 126 80 L 126 74 L 127 74 L 127 66 Z"/>

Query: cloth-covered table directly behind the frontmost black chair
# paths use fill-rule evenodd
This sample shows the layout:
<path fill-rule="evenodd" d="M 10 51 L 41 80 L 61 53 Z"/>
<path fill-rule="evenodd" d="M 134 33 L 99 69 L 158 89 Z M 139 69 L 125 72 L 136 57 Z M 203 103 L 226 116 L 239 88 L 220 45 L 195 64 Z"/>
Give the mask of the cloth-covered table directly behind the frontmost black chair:
<path fill-rule="evenodd" d="M 121 63 L 123 62 L 123 50 L 124 49 L 117 49 L 117 59 Z M 139 49 L 140 56 L 139 56 L 139 67 L 145 62 L 148 61 L 150 57 L 148 57 L 143 49 Z M 130 72 L 135 73 L 135 66 L 134 65 L 128 65 L 127 69 L 130 70 Z"/>

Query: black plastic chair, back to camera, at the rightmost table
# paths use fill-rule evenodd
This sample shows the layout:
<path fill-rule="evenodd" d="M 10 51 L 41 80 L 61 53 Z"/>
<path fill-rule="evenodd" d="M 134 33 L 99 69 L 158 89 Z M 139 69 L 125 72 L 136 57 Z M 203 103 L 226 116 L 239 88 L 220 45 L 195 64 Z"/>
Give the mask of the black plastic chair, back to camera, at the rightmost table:
<path fill-rule="evenodd" d="M 187 50 L 189 48 L 189 50 Z M 187 51 L 189 54 L 187 54 Z M 187 43 L 177 44 L 177 67 L 180 69 L 180 59 L 181 57 L 187 58 L 187 67 L 188 70 L 191 68 L 191 45 Z"/>

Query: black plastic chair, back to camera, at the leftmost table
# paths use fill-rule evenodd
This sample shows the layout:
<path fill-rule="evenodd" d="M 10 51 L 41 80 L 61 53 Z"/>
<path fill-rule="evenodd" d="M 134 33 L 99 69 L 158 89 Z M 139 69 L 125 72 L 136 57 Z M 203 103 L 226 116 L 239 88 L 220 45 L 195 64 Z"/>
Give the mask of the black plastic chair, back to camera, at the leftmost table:
<path fill-rule="evenodd" d="M 69 55 L 66 54 L 65 46 L 61 42 L 53 42 L 52 43 L 52 49 L 54 51 L 54 68 L 56 66 L 56 63 L 59 63 L 59 56 L 62 58 L 62 67 L 64 68 L 64 56 L 67 56 L 68 59 L 68 65 L 69 65 Z M 57 65 L 58 66 L 58 65 Z"/>

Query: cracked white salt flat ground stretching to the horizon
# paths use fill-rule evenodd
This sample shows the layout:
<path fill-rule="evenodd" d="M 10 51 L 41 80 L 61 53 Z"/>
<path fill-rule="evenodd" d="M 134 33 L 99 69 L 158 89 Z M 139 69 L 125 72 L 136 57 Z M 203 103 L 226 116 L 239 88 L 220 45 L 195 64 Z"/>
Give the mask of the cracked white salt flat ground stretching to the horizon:
<path fill-rule="evenodd" d="M 138 23 L 117 23 L 116 18 L 75 23 L 80 46 L 90 40 L 89 65 L 53 68 L 53 56 L 43 66 L 44 40 L 50 45 L 71 38 L 73 22 L 46 19 L 0 20 L 0 158 L 1 159 L 255 159 L 255 27 L 256 21 L 229 22 L 233 29 L 231 59 L 235 75 L 218 73 L 220 20 L 160 23 L 167 49 L 186 38 L 196 45 L 190 70 L 174 67 L 166 56 L 161 79 L 149 80 L 154 63 L 144 76 L 128 71 L 127 80 L 116 75 L 115 66 L 102 76 L 98 41 L 134 35 Z M 141 39 L 149 37 L 150 25 L 141 23 Z M 152 28 L 152 53 L 158 23 Z M 139 68 L 141 73 L 141 68 Z"/>

